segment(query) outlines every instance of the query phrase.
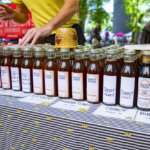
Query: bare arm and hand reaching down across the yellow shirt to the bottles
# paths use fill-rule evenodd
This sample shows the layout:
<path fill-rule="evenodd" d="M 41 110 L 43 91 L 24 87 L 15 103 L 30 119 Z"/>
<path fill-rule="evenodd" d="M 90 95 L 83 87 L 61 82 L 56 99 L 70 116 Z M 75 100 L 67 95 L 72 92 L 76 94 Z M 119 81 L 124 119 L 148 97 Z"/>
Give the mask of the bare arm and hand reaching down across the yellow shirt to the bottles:
<path fill-rule="evenodd" d="M 53 30 L 64 25 L 78 12 L 78 5 L 78 0 L 64 0 L 64 5 L 55 17 L 44 27 L 30 29 L 19 45 L 26 45 L 32 39 L 31 45 L 35 45 L 40 39 L 49 36 Z"/>

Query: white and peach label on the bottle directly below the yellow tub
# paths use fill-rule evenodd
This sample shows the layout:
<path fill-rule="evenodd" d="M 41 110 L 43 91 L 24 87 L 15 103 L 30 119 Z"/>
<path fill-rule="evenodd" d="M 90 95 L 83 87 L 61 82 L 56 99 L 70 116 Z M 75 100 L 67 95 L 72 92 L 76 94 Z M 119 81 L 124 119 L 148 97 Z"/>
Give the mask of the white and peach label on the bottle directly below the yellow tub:
<path fill-rule="evenodd" d="M 58 71 L 58 95 L 69 97 L 69 73 L 66 71 Z"/>

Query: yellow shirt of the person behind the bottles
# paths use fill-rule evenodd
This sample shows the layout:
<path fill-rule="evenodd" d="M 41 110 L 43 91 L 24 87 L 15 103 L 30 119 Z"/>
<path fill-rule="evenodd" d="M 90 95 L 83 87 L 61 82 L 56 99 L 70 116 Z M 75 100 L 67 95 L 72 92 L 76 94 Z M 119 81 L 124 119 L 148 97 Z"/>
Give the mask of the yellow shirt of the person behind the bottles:
<path fill-rule="evenodd" d="M 35 27 L 42 27 L 55 17 L 64 4 L 64 0 L 11 0 L 16 4 L 24 4 L 31 12 Z M 80 19 L 75 14 L 62 27 L 71 27 L 78 24 Z"/>

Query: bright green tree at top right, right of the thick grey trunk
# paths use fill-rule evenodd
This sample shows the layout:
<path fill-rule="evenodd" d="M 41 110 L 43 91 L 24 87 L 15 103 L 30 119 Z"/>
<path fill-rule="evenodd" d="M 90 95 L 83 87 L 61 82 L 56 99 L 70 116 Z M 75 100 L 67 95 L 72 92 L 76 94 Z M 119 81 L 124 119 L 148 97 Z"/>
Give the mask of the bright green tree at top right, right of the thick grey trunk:
<path fill-rule="evenodd" d="M 142 29 L 142 20 L 148 12 L 149 0 L 125 0 L 125 12 L 129 15 L 127 25 L 133 32 L 133 41 L 137 43 L 138 34 Z"/>

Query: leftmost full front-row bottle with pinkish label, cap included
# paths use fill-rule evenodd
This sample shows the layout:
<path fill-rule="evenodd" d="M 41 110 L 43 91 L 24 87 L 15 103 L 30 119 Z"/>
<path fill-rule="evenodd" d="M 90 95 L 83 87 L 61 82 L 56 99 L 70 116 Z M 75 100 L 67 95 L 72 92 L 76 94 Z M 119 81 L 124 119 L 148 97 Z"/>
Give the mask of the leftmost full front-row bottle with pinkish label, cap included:
<path fill-rule="evenodd" d="M 11 66 L 11 59 L 10 59 L 10 50 L 9 48 L 3 47 L 2 49 L 2 63 L 1 63 L 1 80 L 2 80 L 2 88 L 3 89 L 11 89 L 11 72 L 10 72 L 10 66 Z"/>

